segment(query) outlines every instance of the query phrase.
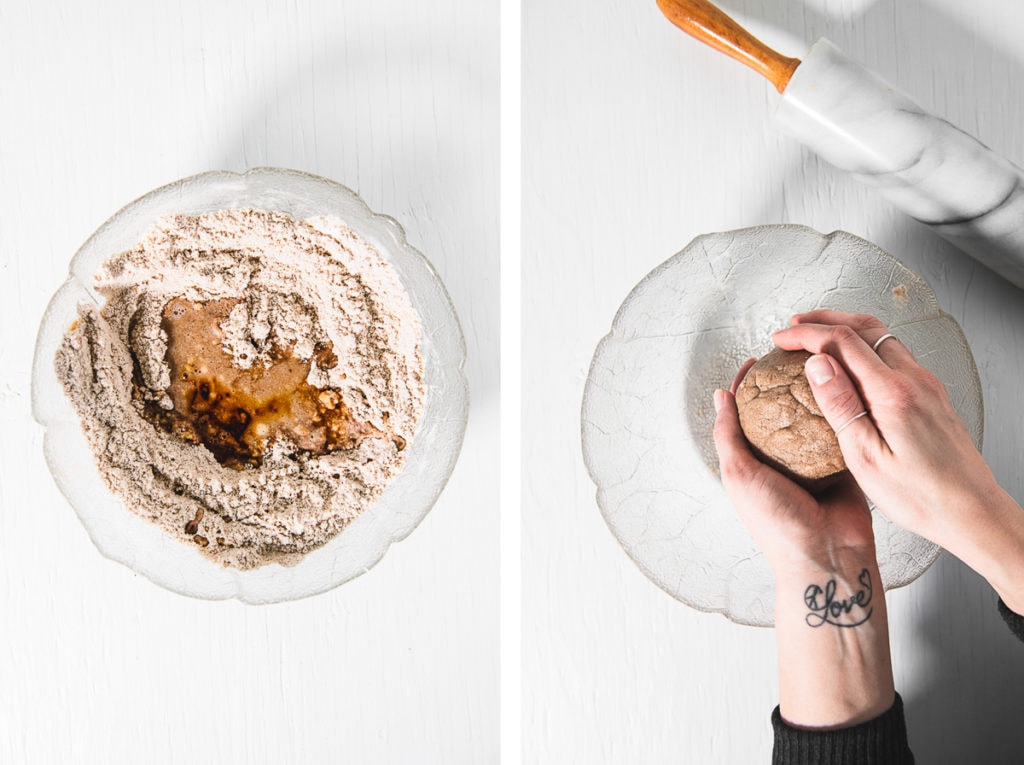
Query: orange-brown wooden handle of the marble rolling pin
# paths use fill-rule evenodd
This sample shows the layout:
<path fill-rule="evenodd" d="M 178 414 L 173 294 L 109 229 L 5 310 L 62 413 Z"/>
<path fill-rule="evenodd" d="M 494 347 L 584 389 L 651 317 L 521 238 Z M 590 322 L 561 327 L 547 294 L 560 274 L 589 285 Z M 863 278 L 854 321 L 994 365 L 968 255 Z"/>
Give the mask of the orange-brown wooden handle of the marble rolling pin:
<path fill-rule="evenodd" d="M 707 0 L 657 0 L 657 7 L 683 32 L 745 63 L 780 93 L 800 66 L 799 58 L 772 50 Z"/>

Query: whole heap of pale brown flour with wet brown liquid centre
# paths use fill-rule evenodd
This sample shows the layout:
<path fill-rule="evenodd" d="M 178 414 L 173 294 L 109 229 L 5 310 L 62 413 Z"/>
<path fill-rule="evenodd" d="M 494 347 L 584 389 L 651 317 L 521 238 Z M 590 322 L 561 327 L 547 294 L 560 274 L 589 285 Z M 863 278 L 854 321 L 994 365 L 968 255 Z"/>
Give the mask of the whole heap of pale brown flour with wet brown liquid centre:
<path fill-rule="evenodd" d="M 225 566 L 294 564 L 370 506 L 423 409 L 420 323 L 334 218 L 160 218 L 57 351 L 100 473 Z"/>

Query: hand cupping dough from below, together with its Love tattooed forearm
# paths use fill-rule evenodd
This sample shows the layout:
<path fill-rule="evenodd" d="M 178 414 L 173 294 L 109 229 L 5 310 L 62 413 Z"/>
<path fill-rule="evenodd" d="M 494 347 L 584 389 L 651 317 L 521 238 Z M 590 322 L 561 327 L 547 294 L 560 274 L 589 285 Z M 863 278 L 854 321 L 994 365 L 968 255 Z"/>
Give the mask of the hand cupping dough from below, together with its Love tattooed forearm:
<path fill-rule="evenodd" d="M 731 391 L 715 391 L 715 445 L 726 493 L 775 573 L 781 714 L 791 725 L 848 727 L 895 697 L 870 512 L 849 474 L 811 495 L 754 456 L 735 400 L 753 363 Z"/>

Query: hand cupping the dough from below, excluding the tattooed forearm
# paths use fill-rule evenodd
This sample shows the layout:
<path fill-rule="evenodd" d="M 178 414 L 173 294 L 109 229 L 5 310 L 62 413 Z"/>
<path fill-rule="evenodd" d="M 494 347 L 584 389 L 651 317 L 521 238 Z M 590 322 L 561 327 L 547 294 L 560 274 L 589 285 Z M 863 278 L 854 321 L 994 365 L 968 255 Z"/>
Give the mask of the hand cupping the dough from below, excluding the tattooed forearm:
<path fill-rule="evenodd" d="M 833 569 L 837 558 L 851 552 L 873 560 L 871 514 L 851 475 L 815 497 L 751 452 L 739 427 L 735 392 L 752 364 L 740 369 L 730 391 L 715 391 L 722 483 L 740 520 L 776 575 L 808 563 Z"/>

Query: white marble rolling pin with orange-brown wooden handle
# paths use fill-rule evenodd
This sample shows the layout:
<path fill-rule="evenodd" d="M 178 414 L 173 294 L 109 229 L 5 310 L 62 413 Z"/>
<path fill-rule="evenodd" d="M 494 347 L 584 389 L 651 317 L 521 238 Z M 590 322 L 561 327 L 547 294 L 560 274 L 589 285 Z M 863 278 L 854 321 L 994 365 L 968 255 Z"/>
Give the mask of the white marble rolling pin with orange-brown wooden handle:
<path fill-rule="evenodd" d="M 1024 287 L 1024 171 L 819 40 L 803 60 L 710 2 L 657 0 L 669 20 L 782 94 L 776 119 L 823 159 Z"/>

